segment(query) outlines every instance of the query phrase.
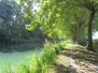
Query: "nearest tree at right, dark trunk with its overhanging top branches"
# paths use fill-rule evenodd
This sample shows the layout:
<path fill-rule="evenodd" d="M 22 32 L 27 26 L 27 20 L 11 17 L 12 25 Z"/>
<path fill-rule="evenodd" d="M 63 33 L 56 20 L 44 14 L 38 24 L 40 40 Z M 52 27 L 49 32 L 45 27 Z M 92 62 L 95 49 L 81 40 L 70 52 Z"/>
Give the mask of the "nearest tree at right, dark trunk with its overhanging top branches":
<path fill-rule="evenodd" d="M 92 27 L 93 27 L 93 20 L 95 18 L 96 13 L 98 12 L 98 1 L 97 0 L 70 0 L 70 3 L 87 9 L 89 11 L 89 18 L 88 18 L 88 49 L 94 50 L 93 48 L 93 33 L 92 33 Z"/>

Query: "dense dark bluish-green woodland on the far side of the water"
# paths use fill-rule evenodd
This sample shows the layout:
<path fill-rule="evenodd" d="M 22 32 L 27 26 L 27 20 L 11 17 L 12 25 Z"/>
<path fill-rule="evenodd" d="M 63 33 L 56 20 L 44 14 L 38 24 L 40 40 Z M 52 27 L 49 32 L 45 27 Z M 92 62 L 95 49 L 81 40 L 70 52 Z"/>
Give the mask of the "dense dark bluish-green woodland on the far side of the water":
<path fill-rule="evenodd" d="M 33 30 L 28 29 L 31 20 L 25 17 L 24 9 L 15 0 L 0 1 L 0 44 L 42 43 L 48 39 L 39 23 Z"/>

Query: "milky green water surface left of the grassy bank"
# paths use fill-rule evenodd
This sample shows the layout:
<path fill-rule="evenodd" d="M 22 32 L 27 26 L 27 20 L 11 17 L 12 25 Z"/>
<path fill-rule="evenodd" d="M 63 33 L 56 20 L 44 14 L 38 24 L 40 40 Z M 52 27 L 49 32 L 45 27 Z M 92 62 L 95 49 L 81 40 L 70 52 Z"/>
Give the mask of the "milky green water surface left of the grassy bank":
<path fill-rule="evenodd" d="M 34 46 L 34 47 L 33 47 Z M 24 44 L 19 46 L 13 46 L 13 48 L 18 47 L 18 49 L 29 49 L 24 52 L 10 52 L 10 53 L 2 53 L 0 52 L 0 71 L 10 68 L 13 70 L 20 63 L 28 64 L 29 63 L 29 56 L 37 54 L 38 56 L 42 53 L 42 47 L 40 45 L 32 45 L 32 44 Z M 33 49 L 30 49 L 30 48 Z M 6 48 L 6 47 L 5 47 Z M 10 48 L 10 46 L 9 46 Z M 12 46 L 11 46 L 12 48 Z"/>

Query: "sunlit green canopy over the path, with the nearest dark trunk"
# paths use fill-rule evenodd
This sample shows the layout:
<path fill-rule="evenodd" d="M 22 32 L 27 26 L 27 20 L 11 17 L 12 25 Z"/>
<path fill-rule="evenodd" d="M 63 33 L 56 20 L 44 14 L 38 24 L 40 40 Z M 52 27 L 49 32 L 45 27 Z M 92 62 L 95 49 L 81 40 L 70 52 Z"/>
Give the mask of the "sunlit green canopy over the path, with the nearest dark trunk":
<path fill-rule="evenodd" d="M 22 1 L 22 0 L 20 0 Z M 26 0 L 31 8 L 33 1 Z M 30 2 L 30 4 L 29 4 Z M 40 9 L 34 21 L 41 23 L 41 29 L 50 36 L 71 38 L 81 43 L 84 33 L 88 33 L 88 49 L 93 49 L 93 21 L 97 17 L 97 0 L 36 0 Z M 28 8 L 27 6 L 27 8 Z M 31 11 L 29 11 L 31 13 Z M 29 17 L 29 13 L 26 13 Z M 32 19 L 32 18 L 31 18 Z M 88 31 L 88 32 L 86 32 Z"/>

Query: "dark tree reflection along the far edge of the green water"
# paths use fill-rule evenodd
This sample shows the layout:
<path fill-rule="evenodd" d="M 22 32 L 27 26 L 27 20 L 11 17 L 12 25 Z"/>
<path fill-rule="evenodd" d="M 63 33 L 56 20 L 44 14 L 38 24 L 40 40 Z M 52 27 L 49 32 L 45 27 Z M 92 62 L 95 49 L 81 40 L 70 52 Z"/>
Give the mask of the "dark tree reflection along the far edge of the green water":
<path fill-rule="evenodd" d="M 16 45 L 0 45 L 0 52 L 12 53 L 12 52 L 25 52 L 34 48 L 43 47 L 43 44 L 16 44 Z"/>

